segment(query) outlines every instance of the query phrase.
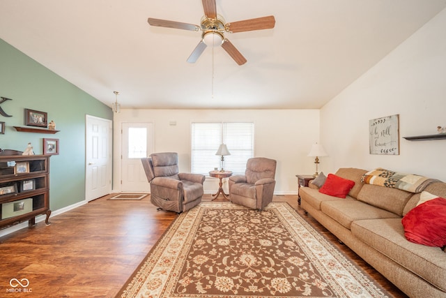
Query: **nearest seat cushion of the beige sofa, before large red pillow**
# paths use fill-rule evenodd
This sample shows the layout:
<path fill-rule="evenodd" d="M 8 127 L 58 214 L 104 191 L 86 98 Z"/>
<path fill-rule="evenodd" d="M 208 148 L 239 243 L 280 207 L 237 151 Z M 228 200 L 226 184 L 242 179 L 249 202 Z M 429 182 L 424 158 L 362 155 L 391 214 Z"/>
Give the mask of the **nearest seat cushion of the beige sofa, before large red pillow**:
<path fill-rule="evenodd" d="M 446 257 L 438 247 L 422 246 L 404 237 L 399 218 L 367 219 L 351 225 L 352 234 L 402 267 L 446 291 Z"/>

